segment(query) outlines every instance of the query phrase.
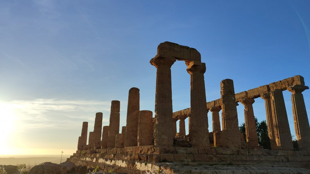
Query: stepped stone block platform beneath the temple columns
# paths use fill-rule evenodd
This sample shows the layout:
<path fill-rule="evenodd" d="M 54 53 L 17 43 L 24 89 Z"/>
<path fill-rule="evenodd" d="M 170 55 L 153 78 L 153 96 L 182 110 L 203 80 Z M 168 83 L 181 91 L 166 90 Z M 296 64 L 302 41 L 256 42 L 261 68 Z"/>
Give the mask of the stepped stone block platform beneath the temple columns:
<path fill-rule="evenodd" d="M 310 173 L 310 152 L 134 146 L 77 150 L 67 161 L 102 171 L 147 173 Z"/>

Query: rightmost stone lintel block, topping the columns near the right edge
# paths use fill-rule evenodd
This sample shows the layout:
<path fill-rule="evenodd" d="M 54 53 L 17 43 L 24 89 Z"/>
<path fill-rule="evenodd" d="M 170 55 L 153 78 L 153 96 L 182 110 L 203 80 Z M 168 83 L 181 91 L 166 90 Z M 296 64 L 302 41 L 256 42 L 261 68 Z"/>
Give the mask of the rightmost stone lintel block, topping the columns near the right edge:
<path fill-rule="evenodd" d="M 283 79 L 277 82 L 270 83 L 270 90 L 274 91 L 275 89 L 281 89 L 282 91 L 286 90 L 288 87 L 293 85 L 305 85 L 303 76 L 294 76 L 287 79 Z"/>

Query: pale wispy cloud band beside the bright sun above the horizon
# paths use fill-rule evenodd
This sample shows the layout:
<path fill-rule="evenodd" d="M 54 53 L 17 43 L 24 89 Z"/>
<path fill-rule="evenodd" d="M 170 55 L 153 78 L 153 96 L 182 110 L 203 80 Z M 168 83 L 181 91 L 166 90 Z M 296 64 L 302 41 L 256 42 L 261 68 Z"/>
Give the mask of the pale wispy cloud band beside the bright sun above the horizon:
<path fill-rule="evenodd" d="M 108 120 L 111 102 L 96 100 L 35 99 L 1 102 L 14 114 L 21 128 L 74 128 L 81 121 L 94 121 L 95 112 Z M 5 116 L 5 115 L 3 115 Z"/>

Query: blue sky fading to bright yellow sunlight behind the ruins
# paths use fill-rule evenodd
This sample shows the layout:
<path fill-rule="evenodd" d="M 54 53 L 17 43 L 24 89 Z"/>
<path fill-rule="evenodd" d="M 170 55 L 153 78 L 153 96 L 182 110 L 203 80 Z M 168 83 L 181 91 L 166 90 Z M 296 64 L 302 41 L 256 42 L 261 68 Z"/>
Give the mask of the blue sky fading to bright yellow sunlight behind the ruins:
<path fill-rule="evenodd" d="M 109 124 L 112 100 L 126 125 L 128 90 L 154 111 L 156 68 L 164 41 L 196 48 L 206 63 L 207 101 L 220 81 L 235 92 L 294 75 L 310 85 L 310 1 L 0 1 L 0 157 L 72 154 L 82 122 L 96 112 Z M 190 107 L 184 62 L 172 71 L 173 111 Z M 290 92 L 284 91 L 294 135 Z M 310 111 L 310 92 L 303 92 Z M 266 120 L 263 99 L 255 116 Z M 244 122 L 239 105 L 239 124 Z M 209 113 L 209 131 L 212 131 Z M 188 133 L 188 127 L 187 127 Z"/>

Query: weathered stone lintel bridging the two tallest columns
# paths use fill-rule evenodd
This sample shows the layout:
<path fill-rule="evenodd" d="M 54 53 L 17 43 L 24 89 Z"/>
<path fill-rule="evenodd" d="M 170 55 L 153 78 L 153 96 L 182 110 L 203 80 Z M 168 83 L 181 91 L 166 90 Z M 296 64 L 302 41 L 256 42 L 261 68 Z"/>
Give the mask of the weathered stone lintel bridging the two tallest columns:
<path fill-rule="evenodd" d="M 186 62 L 198 61 L 201 62 L 201 55 L 195 48 L 182 46 L 172 42 L 160 43 L 157 47 L 157 57 L 175 58 L 177 60 L 184 60 Z"/>

